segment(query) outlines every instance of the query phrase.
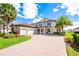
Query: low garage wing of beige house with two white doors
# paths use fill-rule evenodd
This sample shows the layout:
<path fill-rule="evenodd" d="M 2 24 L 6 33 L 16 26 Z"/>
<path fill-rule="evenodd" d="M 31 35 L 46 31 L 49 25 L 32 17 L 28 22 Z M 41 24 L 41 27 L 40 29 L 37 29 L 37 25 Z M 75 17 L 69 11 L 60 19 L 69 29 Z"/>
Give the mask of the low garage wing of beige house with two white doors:
<path fill-rule="evenodd" d="M 30 24 L 12 24 L 11 32 L 18 33 L 20 35 L 32 35 L 34 28 Z"/>

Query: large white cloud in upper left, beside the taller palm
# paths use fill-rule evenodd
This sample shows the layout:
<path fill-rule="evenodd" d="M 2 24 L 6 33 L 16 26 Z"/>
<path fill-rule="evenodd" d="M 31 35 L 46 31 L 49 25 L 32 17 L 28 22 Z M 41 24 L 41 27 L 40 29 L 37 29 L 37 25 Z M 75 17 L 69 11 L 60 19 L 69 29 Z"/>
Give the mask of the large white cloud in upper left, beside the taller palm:
<path fill-rule="evenodd" d="M 19 3 L 14 3 L 13 4 L 17 11 L 19 12 L 19 8 L 21 7 Z M 38 13 L 38 8 L 37 8 L 37 4 L 34 3 L 24 3 L 23 4 L 23 14 L 24 16 L 22 16 L 21 14 L 18 13 L 18 16 L 22 17 L 22 18 L 30 18 L 33 19 L 36 17 L 37 13 Z"/>

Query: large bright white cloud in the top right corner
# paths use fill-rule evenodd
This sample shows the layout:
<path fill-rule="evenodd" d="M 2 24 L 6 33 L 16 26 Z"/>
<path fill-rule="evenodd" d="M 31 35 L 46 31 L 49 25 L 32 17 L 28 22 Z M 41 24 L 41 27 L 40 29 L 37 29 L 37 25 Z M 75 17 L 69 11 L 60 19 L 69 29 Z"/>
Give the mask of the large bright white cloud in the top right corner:
<path fill-rule="evenodd" d="M 71 16 L 79 15 L 79 3 L 77 2 L 76 3 L 71 1 L 70 3 L 63 2 L 61 7 L 67 8 L 66 10 L 67 15 L 71 15 Z"/>

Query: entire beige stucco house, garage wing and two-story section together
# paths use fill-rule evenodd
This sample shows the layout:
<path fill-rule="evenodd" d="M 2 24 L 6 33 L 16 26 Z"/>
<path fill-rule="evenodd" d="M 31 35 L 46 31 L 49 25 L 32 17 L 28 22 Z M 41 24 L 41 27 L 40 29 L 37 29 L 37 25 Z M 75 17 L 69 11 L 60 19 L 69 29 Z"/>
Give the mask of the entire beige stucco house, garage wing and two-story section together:
<path fill-rule="evenodd" d="M 40 22 L 32 24 L 12 23 L 9 27 L 9 32 L 18 33 L 20 35 L 54 34 L 54 32 L 56 32 L 55 22 L 55 20 L 43 18 Z M 2 28 L 0 28 L 0 31 L 2 32 Z"/>

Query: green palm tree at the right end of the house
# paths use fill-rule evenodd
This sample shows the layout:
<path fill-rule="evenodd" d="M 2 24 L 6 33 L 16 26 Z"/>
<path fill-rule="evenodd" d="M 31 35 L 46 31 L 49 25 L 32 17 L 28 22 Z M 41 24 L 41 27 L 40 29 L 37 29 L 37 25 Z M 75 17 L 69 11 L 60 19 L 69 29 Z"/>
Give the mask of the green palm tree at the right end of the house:
<path fill-rule="evenodd" d="M 61 29 L 62 32 L 65 26 L 71 26 L 71 25 L 72 21 L 67 16 L 62 15 L 58 18 L 58 20 L 56 20 L 56 28 Z"/>

